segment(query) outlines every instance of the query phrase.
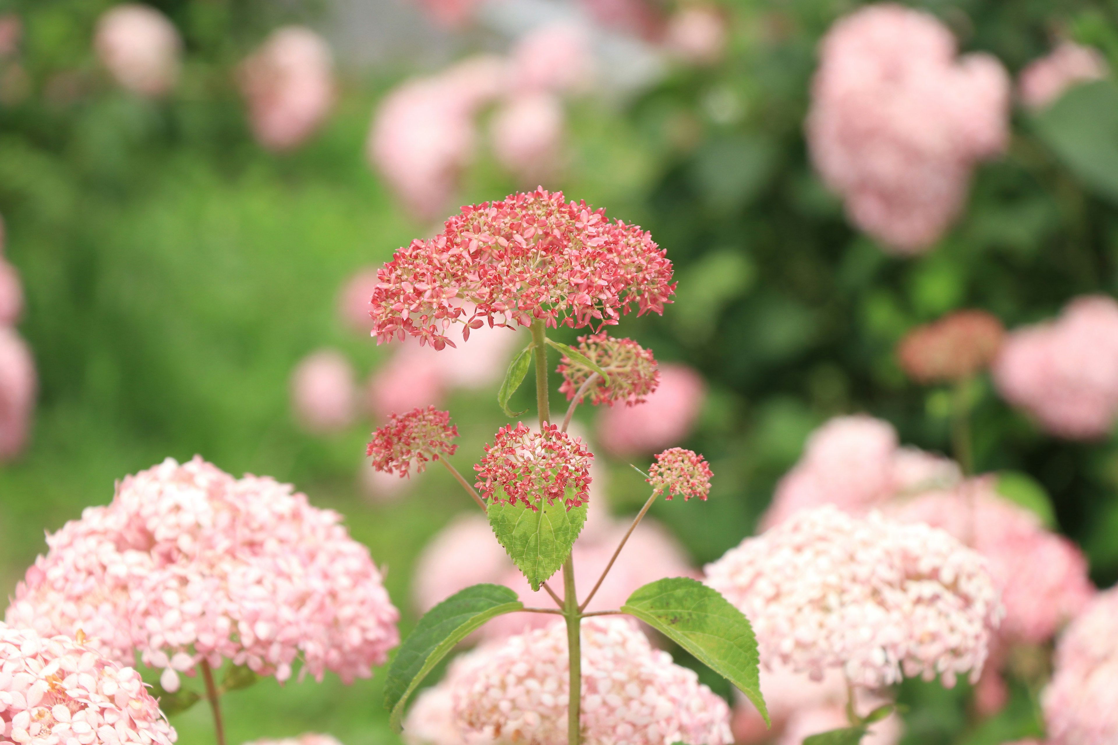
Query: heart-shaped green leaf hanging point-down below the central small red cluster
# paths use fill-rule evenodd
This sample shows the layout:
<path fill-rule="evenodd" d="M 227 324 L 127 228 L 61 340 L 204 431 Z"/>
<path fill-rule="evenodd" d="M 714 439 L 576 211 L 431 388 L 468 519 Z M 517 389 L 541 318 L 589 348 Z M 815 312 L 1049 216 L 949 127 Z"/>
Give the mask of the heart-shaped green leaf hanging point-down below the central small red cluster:
<path fill-rule="evenodd" d="M 498 497 L 503 496 L 499 489 Z M 520 503 L 510 505 L 492 499 L 489 518 L 498 542 L 524 573 L 532 590 L 539 590 L 570 556 L 575 538 L 586 523 L 586 505 L 567 509 L 559 499 L 552 505 L 540 499 L 537 509 L 531 509 Z"/>

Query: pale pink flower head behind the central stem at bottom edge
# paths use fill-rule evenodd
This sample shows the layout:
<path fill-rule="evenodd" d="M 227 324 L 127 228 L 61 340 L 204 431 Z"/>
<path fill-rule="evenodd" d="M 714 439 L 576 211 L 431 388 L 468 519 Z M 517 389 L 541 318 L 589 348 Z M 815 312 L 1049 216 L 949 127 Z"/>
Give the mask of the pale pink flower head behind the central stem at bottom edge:
<path fill-rule="evenodd" d="M 729 745 L 726 703 L 693 670 L 654 649 L 628 619 L 582 623 L 582 734 L 587 745 Z M 561 745 L 567 739 L 567 630 L 562 622 L 472 652 L 449 681 L 466 742 Z"/>

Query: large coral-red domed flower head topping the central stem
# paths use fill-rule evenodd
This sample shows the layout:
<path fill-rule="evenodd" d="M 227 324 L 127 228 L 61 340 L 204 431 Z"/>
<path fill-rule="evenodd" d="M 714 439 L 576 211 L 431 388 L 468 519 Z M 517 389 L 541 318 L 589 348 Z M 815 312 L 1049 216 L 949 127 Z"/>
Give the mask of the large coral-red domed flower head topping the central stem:
<path fill-rule="evenodd" d="M 464 207 L 443 232 L 397 251 L 372 296 L 372 333 L 442 348 L 454 323 L 464 338 L 484 323 L 601 326 L 634 305 L 663 313 L 674 292 L 650 233 L 540 189 Z"/>

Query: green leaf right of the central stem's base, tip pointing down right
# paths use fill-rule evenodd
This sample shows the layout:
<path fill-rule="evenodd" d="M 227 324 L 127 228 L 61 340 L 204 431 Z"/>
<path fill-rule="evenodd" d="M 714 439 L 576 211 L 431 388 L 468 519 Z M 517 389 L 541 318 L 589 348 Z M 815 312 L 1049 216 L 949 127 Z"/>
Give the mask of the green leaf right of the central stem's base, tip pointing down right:
<path fill-rule="evenodd" d="M 754 629 L 717 590 L 688 577 L 657 580 L 629 595 L 622 612 L 662 632 L 737 686 L 769 724 Z"/>

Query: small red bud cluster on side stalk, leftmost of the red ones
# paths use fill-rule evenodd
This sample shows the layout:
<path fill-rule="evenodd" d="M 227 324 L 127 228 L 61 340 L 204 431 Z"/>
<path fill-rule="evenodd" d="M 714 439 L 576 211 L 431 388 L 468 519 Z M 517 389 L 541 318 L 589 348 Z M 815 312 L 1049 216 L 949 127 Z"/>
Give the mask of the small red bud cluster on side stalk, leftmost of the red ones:
<path fill-rule="evenodd" d="M 366 450 L 372 456 L 372 467 L 379 471 L 408 475 L 411 464 L 423 472 L 427 461 L 439 456 L 453 456 L 458 446 L 451 440 L 458 437 L 458 428 L 451 423 L 451 412 L 435 407 L 413 409 L 406 414 L 392 414 L 388 423 L 372 433 Z"/>

